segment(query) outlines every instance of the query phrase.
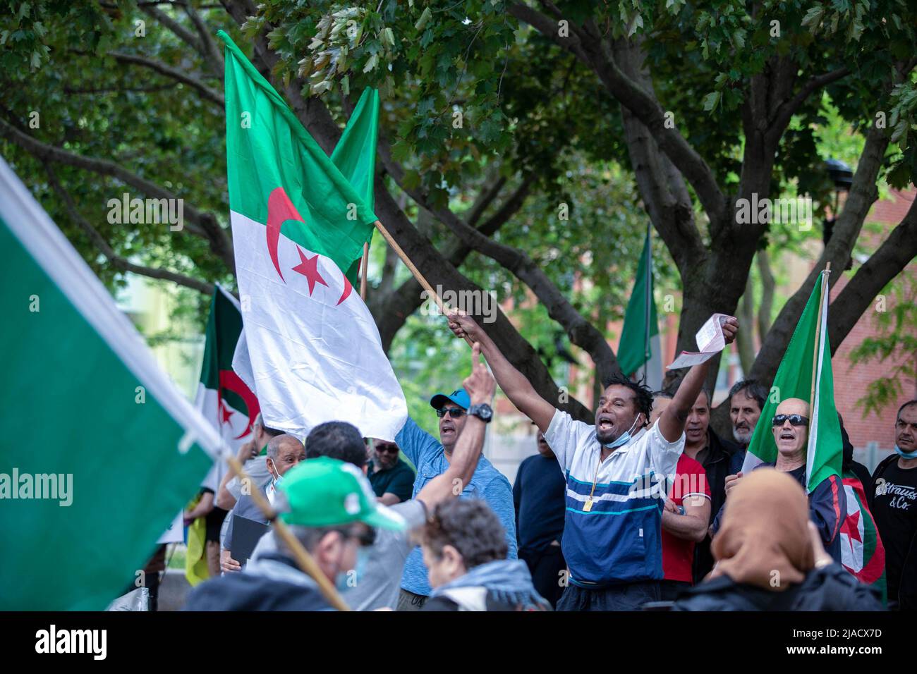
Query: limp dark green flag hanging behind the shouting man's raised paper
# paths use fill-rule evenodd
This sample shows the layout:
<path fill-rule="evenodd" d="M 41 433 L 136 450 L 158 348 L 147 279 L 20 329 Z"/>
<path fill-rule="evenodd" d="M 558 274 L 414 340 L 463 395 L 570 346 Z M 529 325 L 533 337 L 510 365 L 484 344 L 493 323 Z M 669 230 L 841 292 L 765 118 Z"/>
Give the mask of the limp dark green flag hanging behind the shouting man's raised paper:
<path fill-rule="evenodd" d="M 634 290 L 624 312 L 624 327 L 618 345 L 618 364 L 628 377 L 646 377 L 653 391 L 662 388 L 662 348 L 659 343 L 659 323 L 656 300 L 653 298 L 653 264 L 650 228 L 640 262 L 637 264 Z"/>

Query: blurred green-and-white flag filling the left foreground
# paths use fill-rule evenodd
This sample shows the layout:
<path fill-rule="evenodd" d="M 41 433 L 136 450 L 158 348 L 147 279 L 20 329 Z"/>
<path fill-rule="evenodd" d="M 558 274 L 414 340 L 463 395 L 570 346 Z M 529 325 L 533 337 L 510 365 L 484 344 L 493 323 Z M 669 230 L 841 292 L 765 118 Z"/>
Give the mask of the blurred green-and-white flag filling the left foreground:
<path fill-rule="evenodd" d="M 219 438 L 4 160 L 0 259 L 0 610 L 101 610 Z"/>

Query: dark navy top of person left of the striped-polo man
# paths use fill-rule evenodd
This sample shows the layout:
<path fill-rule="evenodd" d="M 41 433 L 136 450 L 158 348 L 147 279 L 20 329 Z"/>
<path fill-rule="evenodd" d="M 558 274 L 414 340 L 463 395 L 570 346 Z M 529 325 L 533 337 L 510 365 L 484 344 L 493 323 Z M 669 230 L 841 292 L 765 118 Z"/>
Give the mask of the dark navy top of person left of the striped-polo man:
<path fill-rule="evenodd" d="M 558 459 L 536 454 L 519 465 L 513 484 L 519 551 L 542 552 L 560 542 L 567 513 L 567 481 Z"/>

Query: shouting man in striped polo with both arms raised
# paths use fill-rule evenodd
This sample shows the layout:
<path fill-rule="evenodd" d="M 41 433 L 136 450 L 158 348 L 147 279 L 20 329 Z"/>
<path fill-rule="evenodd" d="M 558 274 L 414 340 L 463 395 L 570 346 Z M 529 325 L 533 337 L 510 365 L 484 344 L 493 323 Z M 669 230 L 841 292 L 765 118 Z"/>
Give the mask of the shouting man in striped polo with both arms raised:
<path fill-rule="evenodd" d="M 691 368 L 655 424 L 649 425 L 649 389 L 615 377 L 606 382 L 595 425 L 588 425 L 539 396 L 472 318 L 451 315 L 449 327 L 458 337 L 481 343 L 500 388 L 545 434 L 565 473 L 561 547 L 569 587 L 558 611 L 633 611 L 658 601 L 665 484 L 674 479 L 685 421 L 709 361 Z M 723 325 L 726 344 L 737 329 L 735 318 Z"/>

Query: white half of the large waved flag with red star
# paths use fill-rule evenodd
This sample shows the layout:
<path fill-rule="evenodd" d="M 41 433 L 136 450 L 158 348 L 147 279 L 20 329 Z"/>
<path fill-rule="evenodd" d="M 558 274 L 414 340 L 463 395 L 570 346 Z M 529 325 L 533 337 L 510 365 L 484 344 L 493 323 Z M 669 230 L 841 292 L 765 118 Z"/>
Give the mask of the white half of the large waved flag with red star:
<path fill-rule="evenodd" d="M 265 226 L 236 212 L 231 219 L 253 390 L 265 425 L 304 437 L 315 425 L 347 421 L 364 437 L 393 440 L 407 403 L 359 293 L 348 292 L 344 274 L 323 256 L 313 262 L 325 284 L 315 282 L 310 293 L 307 277 L 293 268 L 304 264 L 300 250 L 306 259 L 315 253 L 283 236 L 281 279 Z"/>

